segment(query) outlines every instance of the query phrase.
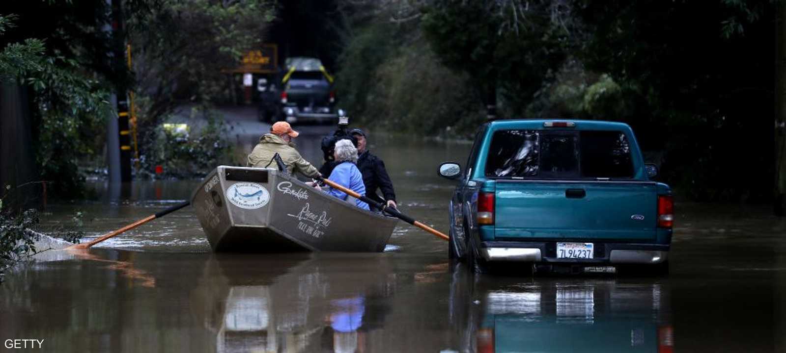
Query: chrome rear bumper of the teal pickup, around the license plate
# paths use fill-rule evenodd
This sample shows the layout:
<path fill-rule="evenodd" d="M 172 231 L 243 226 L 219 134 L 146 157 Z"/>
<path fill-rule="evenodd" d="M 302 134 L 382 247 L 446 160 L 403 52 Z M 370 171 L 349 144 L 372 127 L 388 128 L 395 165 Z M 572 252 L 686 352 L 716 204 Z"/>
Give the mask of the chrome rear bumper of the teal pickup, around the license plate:
<path fill-rule="evenodd" d="M 481 242 L 479 253 L 488 261 L 565 264 L 660 264 L 668 260 L 668 245 L 593 242 L 593 259 L 560 259 L 556 242 Z"/>

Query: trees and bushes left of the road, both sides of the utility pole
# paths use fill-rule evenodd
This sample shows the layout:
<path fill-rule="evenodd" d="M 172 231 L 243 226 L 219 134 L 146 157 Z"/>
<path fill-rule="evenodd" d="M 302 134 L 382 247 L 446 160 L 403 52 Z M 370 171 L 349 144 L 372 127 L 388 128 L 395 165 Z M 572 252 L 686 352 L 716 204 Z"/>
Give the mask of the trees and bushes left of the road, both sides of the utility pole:
<path fill-rule="evenodd" d="M 123 87 L 134 93 L 138 177 L 195 177 L 231 155 L 211 107 L 232 100 L 234 78 L 226 69 L 264 41 L 275 2 L 123 2 L 121 36 L 132 67 L 108 56 L 115 42 L 104 0 L 7 5 L 0 13 L 2 87 L 19 92 L 31 131 L 2 155 L 35 158 L 30 174 L 47 182 L 50 198 L 86 195 L 84 172 L 106 164 L 106 126 L 117 117 L 110 96 Z M 163 124 L 184 104 L 209 111 L 198 115 L 207 123 L 189 136 L 169 136 Z M 156 166 L 172 168 L 157 175 Z M 13 176 L 0 182 L 20 184 Z"/>

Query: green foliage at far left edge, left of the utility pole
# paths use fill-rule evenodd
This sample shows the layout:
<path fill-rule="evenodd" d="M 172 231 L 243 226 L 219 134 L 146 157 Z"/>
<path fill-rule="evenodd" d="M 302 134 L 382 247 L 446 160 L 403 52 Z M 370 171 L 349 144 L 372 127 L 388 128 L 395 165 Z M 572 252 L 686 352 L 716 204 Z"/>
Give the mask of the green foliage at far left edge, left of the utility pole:
<path fill-rule="evenodd" d="M 0 35 L 13 27 L 14 18 L 0 16 Z M 77 163 L 100 148 L 96 131 L 111 111 L 105 87 L 88 77 L 76 60 L 57 50 L 46 54 L 44 43 L 35 38 L 9 43 L 0 52 L 0 75 L 33 93 L 36 159 L 41 180 L 51 182 L 50 195 L 82 195 L 84 177 Z"/>

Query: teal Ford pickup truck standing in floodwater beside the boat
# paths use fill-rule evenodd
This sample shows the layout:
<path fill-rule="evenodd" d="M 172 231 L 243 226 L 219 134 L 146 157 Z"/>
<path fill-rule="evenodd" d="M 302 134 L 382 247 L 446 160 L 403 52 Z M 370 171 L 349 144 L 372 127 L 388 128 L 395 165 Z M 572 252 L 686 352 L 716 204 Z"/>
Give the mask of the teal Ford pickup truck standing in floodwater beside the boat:
<path fill-rule="evenodd" d="M 674 201 L 630 126 L 499 120 L 480 127 L 450 202 L 451 258 L 476 272 L 668 271 Z M 534 265 L 534 266 L 533 266 Z"/>

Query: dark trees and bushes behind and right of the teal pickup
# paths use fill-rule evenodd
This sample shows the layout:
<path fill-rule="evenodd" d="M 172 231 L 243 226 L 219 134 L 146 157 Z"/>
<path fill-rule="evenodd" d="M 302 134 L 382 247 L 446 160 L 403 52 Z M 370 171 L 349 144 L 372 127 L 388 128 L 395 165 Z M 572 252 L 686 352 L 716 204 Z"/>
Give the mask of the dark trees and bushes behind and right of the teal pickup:
<path fill-rule="evenodd" d="M 339 96 L 367 126 L 426 136 L 469 137 L 489 105 L 498 118 L 626 122 L 682 195 L 782 206 L 783 6 L 338 0 Z"/>

